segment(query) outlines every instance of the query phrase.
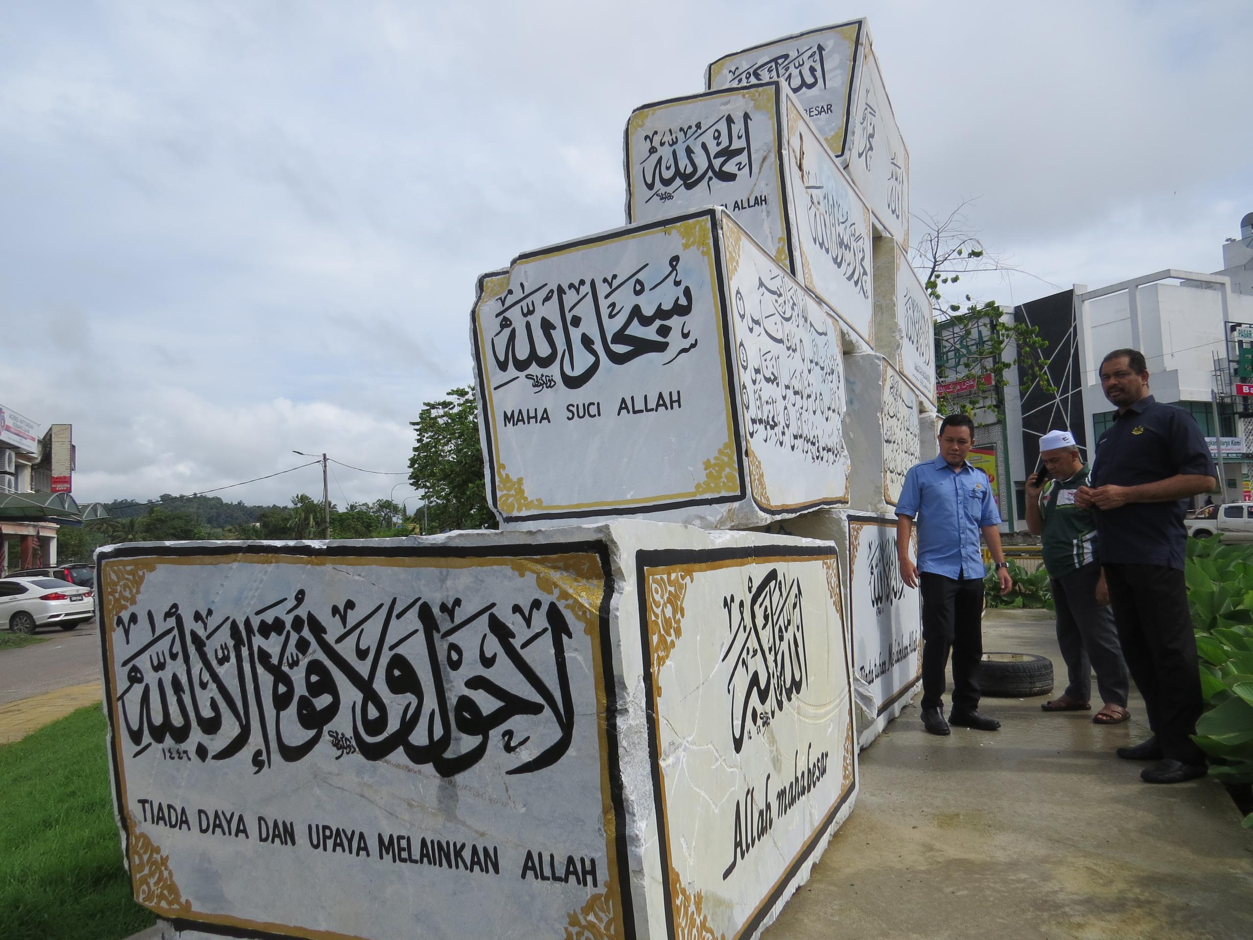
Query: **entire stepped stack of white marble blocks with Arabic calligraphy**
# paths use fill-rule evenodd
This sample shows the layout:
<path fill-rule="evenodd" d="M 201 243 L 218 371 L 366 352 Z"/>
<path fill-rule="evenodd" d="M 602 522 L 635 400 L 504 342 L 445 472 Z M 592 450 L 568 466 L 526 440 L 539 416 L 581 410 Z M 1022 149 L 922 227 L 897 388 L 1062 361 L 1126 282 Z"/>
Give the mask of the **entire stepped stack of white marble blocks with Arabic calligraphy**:
<path fill-rule="evenodd" d="M 624 160 L 625 227 L 479 281 L 501 531 L 99 554 L 169 936 L 754 937 L 852 811 L 918 677 L 892 509 L 935 447 L 865 20 L 719 59 Z"/>

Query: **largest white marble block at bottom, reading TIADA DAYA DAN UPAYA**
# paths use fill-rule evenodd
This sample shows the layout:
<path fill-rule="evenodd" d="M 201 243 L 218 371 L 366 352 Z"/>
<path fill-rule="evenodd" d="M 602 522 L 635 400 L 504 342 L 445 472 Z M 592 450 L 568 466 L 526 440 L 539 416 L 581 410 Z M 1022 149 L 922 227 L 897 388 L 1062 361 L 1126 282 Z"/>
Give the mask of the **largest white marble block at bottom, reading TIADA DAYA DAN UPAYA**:
<path fill-rule="evenodd" d="M 831 545 L 619 521 L 96 563 L 124 857 L 188 937 L 751 937 L 852 811 Z"/>

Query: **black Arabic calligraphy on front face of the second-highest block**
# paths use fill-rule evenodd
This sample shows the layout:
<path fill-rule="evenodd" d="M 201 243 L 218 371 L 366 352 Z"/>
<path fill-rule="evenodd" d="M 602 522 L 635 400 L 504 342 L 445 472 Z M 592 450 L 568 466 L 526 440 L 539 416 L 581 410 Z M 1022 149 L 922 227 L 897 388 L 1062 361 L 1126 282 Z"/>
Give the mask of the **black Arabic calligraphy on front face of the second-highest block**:
<path fill-rule="evenodd" d="M 644 202 L 669 202 L 679 189 L 702 184 L 712 193 L 714 183 L 734 183 L 742 173 L 752 178 L 752 120 L 744 112 L 709 125 L 698 120 L 644 134 L 648 153 L 637 167 L 649 193 Z"/>

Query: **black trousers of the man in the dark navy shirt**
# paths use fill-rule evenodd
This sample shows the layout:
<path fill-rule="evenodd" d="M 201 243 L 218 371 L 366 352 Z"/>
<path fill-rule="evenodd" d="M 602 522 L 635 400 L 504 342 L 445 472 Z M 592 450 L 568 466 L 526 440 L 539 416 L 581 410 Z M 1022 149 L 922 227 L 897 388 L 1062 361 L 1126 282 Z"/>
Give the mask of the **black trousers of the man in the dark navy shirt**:
<path fill-rule="evenodd" d="M 1184 763 L 1204 763 L 1205 752 L 1190 737 L 1205 702 L 1183 572 L 1165 565 L 1103 567 L 1123 658 L 1162 752 Z"/>

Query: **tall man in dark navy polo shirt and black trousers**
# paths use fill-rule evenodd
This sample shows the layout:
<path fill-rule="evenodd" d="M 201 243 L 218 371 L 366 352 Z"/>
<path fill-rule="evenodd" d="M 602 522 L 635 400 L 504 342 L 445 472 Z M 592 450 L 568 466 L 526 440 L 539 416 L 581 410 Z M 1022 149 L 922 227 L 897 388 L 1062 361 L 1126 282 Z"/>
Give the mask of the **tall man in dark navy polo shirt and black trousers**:
<path fill-rule="evenodd" d="M 1140 773 L 1149 783 L 1179 783 L 1205 773 L 1192 739 L 1204 699 L 1183 579 L 1184 499 L 1209 493 L 1218 474 L 1192 415 L 1149 395 L 1144 353 L 1114 350 L 1100 381 L 1118 416 L 1096 442 L 1090 485 L 1076 490 L 1075 505 L 1098 510 L 1098 599 L 1108 592 L 1153 729 L 1118 756 L 1155 761 Z"/>

